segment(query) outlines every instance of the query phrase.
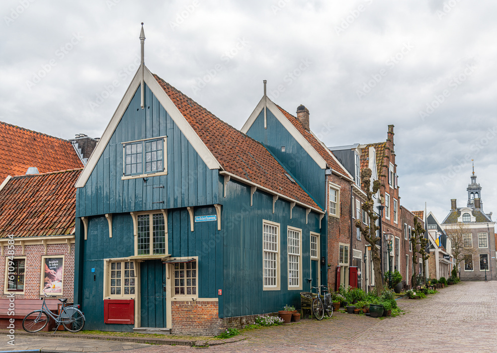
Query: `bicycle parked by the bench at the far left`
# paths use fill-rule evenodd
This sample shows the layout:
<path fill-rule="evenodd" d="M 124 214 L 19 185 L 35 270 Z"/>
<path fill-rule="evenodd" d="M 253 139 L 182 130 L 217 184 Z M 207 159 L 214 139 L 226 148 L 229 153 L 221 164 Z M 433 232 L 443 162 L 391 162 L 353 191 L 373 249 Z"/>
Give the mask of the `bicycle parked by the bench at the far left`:
<path fill-rule="evenodd" d="M 45 294 L 45 297 L 40 298 L 43 299 L 41 309 L 27 314 L 22 320 L 22 328 L 24 331 L 29 333 L 41 331 L 47 326 L 50 318 L 57 324 L 54 333 L 57 332 L 60 325 L 64 326 L 64 328 L 70 332 L 79 332 L 83 329 L 85 318 L 83 312 L 79 309 L 79 305 L 70 305 L 68 307 L 62 305 L 60 314 L 55 315 L 48 309 L 47 303 L 45 303 L 46 298 L 55 297 L 55 295 L 47 295 L 45 292 L 43 294 Z M 59 298 L 59 301 L 62 304 L 65 304 L 67 298 Z"/>

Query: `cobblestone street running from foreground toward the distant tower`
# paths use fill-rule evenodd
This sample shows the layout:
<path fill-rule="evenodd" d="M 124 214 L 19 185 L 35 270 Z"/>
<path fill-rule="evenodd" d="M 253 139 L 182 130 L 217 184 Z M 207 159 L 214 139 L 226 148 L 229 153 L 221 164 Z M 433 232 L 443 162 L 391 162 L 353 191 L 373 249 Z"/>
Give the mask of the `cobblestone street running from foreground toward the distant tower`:
<path fill-rule="evenodd" d="M 400 299 L 406 312 L 383 320 L 337 313 L 323 321 L 253 330 L 248 339 L 202 352 L 497 352 L 497 281 L 462 282 L 422 300 Z M 21 338 L 19 336 L 18 338 Z M 22 337 L 23 348 L 31 337 Z M 66 339 L 64 339 L 66 340 Z M 74 346 L 67 339 L 66 347 Z M 78 340 L 93 352 L 118 351 L 116 342 Z M 5 347 L 2 337 L 0 345 Z M 107 349 L 106 349 L 107 347 Z M 136 346 L 135 346 L 136 347 Z M 194 352 L 180 346 L 140 345 L 127 353 Z M 62 349 L 59 349 L 62 351 Z M 80 352 L 81 352 L 80 348 Z M 88 351 L 89 352 L 89 351 Z"/>

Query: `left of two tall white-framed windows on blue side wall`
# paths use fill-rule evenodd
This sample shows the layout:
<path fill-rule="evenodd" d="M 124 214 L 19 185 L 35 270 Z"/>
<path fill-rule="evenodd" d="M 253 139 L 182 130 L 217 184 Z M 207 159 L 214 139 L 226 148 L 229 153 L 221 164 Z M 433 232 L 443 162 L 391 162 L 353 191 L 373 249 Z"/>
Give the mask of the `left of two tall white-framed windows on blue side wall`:
<path fill-rule="evenodd" d="M 263 224 L 262 249 L 264 258 L 263 284 L 264 287 L 277 287 L 277 265 L 278 265 L 278 227 Z"/>

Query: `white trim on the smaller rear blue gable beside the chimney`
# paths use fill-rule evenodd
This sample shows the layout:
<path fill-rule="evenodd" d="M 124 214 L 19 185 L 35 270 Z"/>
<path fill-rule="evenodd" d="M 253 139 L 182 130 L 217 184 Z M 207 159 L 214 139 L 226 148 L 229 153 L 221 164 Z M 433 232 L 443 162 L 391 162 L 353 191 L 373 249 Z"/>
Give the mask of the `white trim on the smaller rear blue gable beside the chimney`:
<path fill-rule="evenodd" d="M 283 113 L 281 112 L 281 110 L 278 109 L 276 104 L 274 104 L 271 99 L 265 96 L 262 97 L 262 99 L 257 104 L 257 107 L 254 109 L 252 114 L 250 114 L 247 122 L 244 124 L 241 131 L 244 134 L 247 134 L 248 129 L 250 129 L 255 119 L 260 114 L 262 107 L 264 106 L 264 98 L 266 98 L 267 109 L 269 109 L 273 113 L 276 119 L 278 119 L 278 121 L 290 133 L 290 135 L 293 136 L 293 138 L 299 143 L 300 146 L 302 146 L 302 148 L 309 154 L 309 156 L 311 156 L 311 158 L 316 162 L 316 164 L 321 169 L 327 169 L 328 166 L 324 158 L 321 157 L 321 155 L 314 149 L 314 147 L 312 147 L 309 141 L 307 141 L 306 138 L 302 136 L 302 134 L 299 132 L 299 130 L 297 130 L 297 128 L 293 126 L 293 124 L 285 117 L 285 115 L 283 115 Z"/>

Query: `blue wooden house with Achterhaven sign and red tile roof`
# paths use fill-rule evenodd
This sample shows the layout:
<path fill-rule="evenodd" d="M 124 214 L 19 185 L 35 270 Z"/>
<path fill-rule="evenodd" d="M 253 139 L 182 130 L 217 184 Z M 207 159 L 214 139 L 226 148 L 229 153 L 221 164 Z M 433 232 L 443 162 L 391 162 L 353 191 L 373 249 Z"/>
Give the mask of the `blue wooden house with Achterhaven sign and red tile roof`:
<path fill-rule="evenodd" d="M 216 334 L 300 306 L 326 253 L 321 203 L 143 61 L 76 187 L 87 329 Z"/>

